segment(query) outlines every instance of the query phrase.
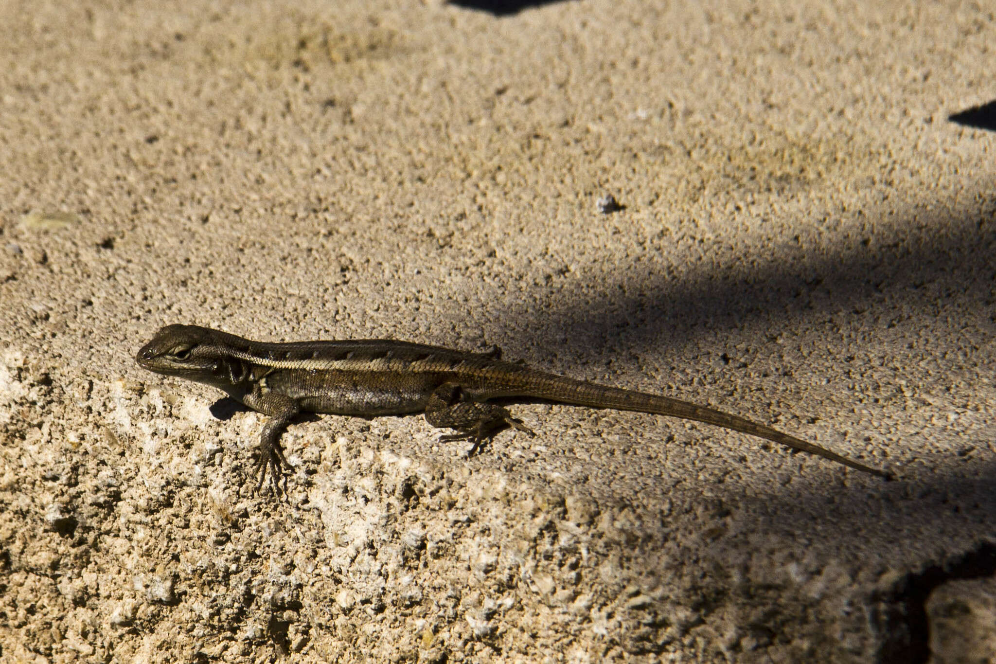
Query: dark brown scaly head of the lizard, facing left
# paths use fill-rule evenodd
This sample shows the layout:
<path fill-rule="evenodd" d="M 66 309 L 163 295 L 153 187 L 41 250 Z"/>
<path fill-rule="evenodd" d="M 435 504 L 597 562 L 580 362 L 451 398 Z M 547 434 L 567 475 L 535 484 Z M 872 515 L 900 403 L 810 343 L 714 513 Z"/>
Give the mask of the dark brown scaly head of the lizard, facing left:
<path fill-rule="evenodd" d="M 202 380 L 217 368 L 218 333 L 198 326 L 166 326 L 141 346 L 134 361 L 156 373 Z"/>

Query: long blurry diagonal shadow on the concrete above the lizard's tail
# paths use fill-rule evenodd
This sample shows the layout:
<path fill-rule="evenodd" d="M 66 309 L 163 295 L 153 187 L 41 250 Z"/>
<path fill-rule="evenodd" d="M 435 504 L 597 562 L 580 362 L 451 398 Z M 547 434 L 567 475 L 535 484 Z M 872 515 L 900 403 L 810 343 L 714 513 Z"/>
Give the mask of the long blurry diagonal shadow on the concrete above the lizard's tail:
<path fill-rule="evenodd" d="M 701 332 L 774 336 L 786 322 L 831 325 L 837 315 L 882 328 L 916 327 L 935 320 L 940 308 L 991 313 L 996 311 L 996 198 L 980 196 L 977 209 L 960 218 L 921 213 L 906 224 L 870 225 L 844 251 L 821 255 L 814 246 L 800 250 L 815 254 L 812 258 L 792 265 L 771 257 L 749 273 L 726 276 L 703 268 L 680 283 L 663 273 L 608 274 L 597 289 L 565 285 L 558 302 L 566 304 L 542 316 L 521 295 L 509 297 L 503 320 L 518 322 L 515 330 L 489 333 L 522 338 L 521 329 L 532 331 L 523 344 L 534 347 L 535 357 L 553 358 L 565 350 L 612 355 L 622 351 L 621 343 L 627 351 L 665 347 L 667 354 L 680 356 L 688 346 L 701 354 L 696 342 Z M 873 219 L 874 211 L 870 214 Z M 976 344 L 984 344 L 996 335 L 996 316 L 976 320 L 984 328 Z M 549 339 L 558 342 L 552 346 Z M 716 357 L 725 349 L 716 348 Z M 660 361 L 666 368 L 666 359 Z"/>

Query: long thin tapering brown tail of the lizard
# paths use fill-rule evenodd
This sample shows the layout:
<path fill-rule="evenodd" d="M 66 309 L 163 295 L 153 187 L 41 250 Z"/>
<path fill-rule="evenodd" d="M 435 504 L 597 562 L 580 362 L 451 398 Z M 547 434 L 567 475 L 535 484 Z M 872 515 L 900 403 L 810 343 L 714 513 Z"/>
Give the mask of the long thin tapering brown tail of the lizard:
<path fill-rule="evenodd" d="M 695 405 L 688 401 L 672 399 L 659 394 L 647 394 L 634 390 L 599 385 L 597 383 L 574 380 L 554 374 L 543 374 L 530 380 L 530 385 L 521 391 L 522 396 L 529 396 L 559 403 L 567 403 L 577 406 L 588 406 L 590 408 L 613 408 L 615 410 L 635 410 L 657 415 L 669 415 L 680 417 L 681 419 L 694 420 L 720 426 L 725 429 L 732 429 L 740 433 L 747 433 L 752 436 L 764 438 L 781 445 L 785 445 L 799 452 L 808 452 L 821 456 L 831 461 L 836 461 L 850 468 L 877 475 L 885 480 L 893 479 L 892 475 L 877 468 L 871 468 L 853 459 L 843 457 L 840 454 L 814 445 L 801 438 L 782 433 L 770 426 L 752 422 L 749 419 L 725 413 L 715 408 Z"/>

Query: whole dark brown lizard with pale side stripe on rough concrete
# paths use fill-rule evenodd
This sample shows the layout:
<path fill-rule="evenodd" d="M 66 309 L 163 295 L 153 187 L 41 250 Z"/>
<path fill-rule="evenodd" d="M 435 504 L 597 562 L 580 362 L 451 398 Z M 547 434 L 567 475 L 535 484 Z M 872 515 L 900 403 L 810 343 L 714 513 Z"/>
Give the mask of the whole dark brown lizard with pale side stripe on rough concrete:
<path fill-rule="evenodd" d="M 592 408 L 612 408 L 712 424 L 808 452 L 886 480 L 872 468 L 764 424 L 668 396 L 611 387 L 530 368 L 490 352 L 465 352 L 392 339 L 262 342 L 199 326 L 171 325 L 141 346 L 135 361 L 156 373 L 221 389 L 269 419 L 258 447 L 257 492 L 269 473 L 291 468 L 280 437 L 302 412 L 375 417 L 423 413 L 436 428 L 455 434 L 440 442 L 473 443 L 468 456 L 498 432 L 532 429 L 500 403 L 536 399 Z"/>

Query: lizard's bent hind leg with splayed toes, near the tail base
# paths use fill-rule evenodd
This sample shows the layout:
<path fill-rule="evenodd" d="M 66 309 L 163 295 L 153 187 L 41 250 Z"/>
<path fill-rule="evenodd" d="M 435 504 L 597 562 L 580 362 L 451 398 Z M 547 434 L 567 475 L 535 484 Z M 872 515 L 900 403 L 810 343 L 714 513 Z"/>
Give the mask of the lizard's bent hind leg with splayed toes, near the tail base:
<path fill-rule="evenodd" d="M 535 436 L 536 433 L 512 417 L 507 408 L 494 403 L 465 400 L 463 390 L 455 383 L 437 387 L 425 404 L 425 421 L 436 428 L 456 429 L 459 433 L 439 436 L 440 443 L 471 440 L 474 445 L 467 456 L 477 452 L 481 445 L 499 431 L 512 427 Z"/>

